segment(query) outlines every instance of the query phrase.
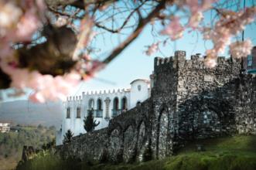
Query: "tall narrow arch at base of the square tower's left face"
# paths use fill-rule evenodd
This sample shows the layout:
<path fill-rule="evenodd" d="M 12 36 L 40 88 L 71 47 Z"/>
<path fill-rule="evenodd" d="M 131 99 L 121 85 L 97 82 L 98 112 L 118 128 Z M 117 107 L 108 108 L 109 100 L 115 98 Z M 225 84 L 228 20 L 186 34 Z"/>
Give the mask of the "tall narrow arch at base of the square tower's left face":
<path fill-rule="evenodd" d="M 159 108 L 157 119 L 156 158 L 169 155 L 169 110 L 166 104 Z"/>

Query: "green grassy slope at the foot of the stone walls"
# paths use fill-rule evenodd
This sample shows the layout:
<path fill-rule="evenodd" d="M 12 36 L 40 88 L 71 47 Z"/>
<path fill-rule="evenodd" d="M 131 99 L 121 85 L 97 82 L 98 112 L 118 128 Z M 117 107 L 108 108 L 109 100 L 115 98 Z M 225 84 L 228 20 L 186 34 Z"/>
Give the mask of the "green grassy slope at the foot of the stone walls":
<path fill-rule="evenodd" d="M 196 151 L 196 145 L 205 151 Z M 256 136 L 234 136 L 196 141 L 179 151 L 179 154 L 161 161 L 135 163 L 131 165 L 88 165 L 76 160 L 63 161 L 56 155 L 41 155 L 19 166 L 18 169 L 84 169 L 84 170 L 254 170 L 256 169 Z"/>

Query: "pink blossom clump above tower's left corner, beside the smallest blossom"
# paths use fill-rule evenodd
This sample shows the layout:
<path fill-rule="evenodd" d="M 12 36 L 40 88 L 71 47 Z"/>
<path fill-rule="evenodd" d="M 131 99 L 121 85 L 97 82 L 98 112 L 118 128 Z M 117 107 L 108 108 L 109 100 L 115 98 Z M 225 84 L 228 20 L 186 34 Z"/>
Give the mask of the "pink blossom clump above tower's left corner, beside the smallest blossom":
<path fill-rule="evenodd" d="M 179 17 L 173 16 L 171 18 L 171 22 L 169 23 L 169 26 L 166 27 L 166 29 L 162 30 L 162 34 L 170 36 L 172 40 L 179 39 L 183 36 L 184 28 L 179 23 Z"/>

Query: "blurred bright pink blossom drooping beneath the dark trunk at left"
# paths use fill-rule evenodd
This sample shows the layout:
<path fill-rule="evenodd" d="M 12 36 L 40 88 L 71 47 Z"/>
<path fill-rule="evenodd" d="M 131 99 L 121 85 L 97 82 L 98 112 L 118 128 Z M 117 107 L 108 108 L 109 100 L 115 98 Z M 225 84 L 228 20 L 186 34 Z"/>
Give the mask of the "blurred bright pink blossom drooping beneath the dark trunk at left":
<path fill-rule="evenodd" d="M 42 75 L 38 71 L 29 71 L 9 66 L 5 59 L 1 60 L 1 68 L 12 79 L 11 86 L 17 89 L 26 87 L 35 90 L 29 97 L 33 101 L 65 100 L 66 96 L 80 82 L 80 74 L 69 73 L 64 76 Z"/>

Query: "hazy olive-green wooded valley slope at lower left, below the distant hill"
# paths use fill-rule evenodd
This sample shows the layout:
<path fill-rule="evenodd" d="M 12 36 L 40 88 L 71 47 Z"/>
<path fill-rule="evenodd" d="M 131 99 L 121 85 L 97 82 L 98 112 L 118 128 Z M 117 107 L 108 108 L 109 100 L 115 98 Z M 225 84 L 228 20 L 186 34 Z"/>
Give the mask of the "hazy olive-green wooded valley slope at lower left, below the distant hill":
<path fill-rule="evenodd" d="M 55 138 L 54 127 L 19 127 L 19 132 L 0 133 L 0 170 L 13 169 L 22 158 L 24 145 L 36 148 Z"/>

